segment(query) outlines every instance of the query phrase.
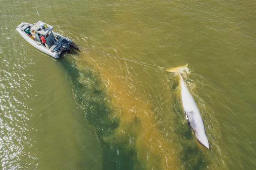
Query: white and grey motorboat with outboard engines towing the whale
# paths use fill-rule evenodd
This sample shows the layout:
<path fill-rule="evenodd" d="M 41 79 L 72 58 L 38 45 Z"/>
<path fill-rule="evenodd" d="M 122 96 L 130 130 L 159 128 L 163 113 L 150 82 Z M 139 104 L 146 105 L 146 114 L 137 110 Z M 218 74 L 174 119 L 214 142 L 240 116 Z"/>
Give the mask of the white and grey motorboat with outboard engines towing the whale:
<path fill-rule="evenodd" d="M 72 40 L 53 31 L 53 26 L 38 21 L 34 24 L 22 22 L 16 27 L 19 34 L 36 49 L 54 58 L 59 58 L 65 52 L 70 51 Z M 46 43 L 42 43 L 42 36 Z"/>

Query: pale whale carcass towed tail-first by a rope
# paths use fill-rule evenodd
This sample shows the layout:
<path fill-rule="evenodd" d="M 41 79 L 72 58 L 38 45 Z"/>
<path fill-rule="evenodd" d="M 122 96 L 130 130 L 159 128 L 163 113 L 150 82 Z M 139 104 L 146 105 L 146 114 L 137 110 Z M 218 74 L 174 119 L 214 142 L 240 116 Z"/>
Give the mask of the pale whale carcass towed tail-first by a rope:
<path fill-rule="evenodd" d="M 205 134 L 205 127 L 203 124 L 202 117 L 200 115 L 199 109 L 190 94 L 180 72 L 187 68 L 187 65 L 181 67 L 175 67 L 166 70 L 167 72 L 177 73 L 180 77 L 180 90 L 181 90 L 181 99 L 182 105 L 185 112 L 186 119 L 191 129 L 193 130 L 196 139 L 206 148 L 209 147 L 209 141 Z"/>

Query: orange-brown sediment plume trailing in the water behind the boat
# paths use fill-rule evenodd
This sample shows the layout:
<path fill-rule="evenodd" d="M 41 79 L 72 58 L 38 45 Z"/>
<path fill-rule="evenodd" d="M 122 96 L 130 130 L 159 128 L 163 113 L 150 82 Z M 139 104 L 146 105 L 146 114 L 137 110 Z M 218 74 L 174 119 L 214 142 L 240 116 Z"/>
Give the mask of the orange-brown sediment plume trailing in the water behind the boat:
<path fill-rule="evenodd" d="M 111 115 L 119 119 L 113 138 L 128 140 L 128 147 L 135 148 L 138 161 L 146 169 L 179 169 L 180 162 L 173 151 L 175 144 L 167 141 L 157 128 L 150 101 L 140 95 L 125 62 L 116 62 L 114 58 L 96 61 L 87 55 L 80 58 L 80 62 L 81 65 L 90 63 L 99 72 L 111 96 L 111 104 L 117 108 Z"/>

